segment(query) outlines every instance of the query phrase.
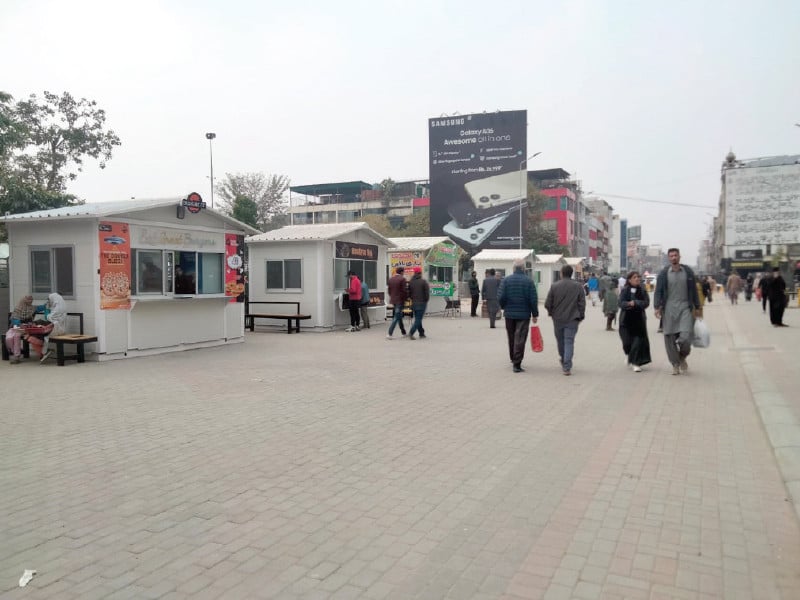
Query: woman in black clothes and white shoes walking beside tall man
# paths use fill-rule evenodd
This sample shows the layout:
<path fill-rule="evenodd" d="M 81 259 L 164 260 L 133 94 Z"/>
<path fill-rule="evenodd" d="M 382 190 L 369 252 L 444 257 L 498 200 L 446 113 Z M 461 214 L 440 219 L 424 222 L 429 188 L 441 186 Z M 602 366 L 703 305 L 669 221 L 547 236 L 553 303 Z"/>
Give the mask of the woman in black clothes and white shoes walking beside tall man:
<path fill-rule="evenodd" d="M 631 365 L 635 373 L 640 373 L 642 365 L 650 362 L 650 340 L 645 316 L 645 310 L 650 306 L 650 296 L 641 282 L 642 276 L 631 271 L 619 295 L 619 337 L 627 357 L 626 364 Z"/>

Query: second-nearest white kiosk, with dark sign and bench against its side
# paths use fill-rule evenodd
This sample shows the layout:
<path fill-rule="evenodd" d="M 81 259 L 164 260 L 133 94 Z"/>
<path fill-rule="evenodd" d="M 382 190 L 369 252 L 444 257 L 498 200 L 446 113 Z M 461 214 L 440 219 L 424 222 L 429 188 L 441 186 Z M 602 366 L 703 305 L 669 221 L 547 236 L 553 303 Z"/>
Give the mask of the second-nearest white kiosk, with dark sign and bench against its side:
<path fill-rule="evenodd" d="M 245 243 L 250 302 L 299 302 L 300 312 L 311 315 L 301 322 L 303 328 L 346 327 L 350 315 L 342 295 L 347 272 L 355 271 L 369 286 L 370 320 L 385 319 L 386 251 L 393 244 L 366 223 L 289 225 L 250 236 Z"/>

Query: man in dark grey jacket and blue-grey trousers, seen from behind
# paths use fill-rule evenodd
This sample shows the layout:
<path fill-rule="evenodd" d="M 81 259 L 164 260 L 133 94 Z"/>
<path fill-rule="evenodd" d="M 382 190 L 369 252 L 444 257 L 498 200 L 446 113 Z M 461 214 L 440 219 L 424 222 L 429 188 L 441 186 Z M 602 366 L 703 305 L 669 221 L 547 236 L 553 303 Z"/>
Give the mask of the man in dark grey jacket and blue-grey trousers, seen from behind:
<path fill-rule="evenodd" d="M 572 279 L 572 267 L 561 267 L 561 279 L 550 286 L 544 301 L 547 314 L 553 318 L 553 331 L 558 345 L 558 359 L 564 375 L 572 375 L 575 336 L 586 315 L 586 294 L 580 283 Z"/>

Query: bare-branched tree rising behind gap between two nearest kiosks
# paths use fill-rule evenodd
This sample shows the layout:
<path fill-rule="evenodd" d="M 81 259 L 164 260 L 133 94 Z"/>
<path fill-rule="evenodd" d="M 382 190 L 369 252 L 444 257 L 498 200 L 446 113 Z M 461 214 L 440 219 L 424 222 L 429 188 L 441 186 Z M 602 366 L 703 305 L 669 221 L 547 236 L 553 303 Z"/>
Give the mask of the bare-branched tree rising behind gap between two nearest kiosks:
<path fill-rule="evenodd" d="M 286 209 L 284 195 L 289 189 L 289 178 L 285 175 L 265 175 L 264 173 L 225 173 L 222 183 L 216 186 L 222 198 L 223 210 L 230 213 L 236 198 L 249 198 L 258 207 L 259 229 L 265 227 L 272 218 Z"/>

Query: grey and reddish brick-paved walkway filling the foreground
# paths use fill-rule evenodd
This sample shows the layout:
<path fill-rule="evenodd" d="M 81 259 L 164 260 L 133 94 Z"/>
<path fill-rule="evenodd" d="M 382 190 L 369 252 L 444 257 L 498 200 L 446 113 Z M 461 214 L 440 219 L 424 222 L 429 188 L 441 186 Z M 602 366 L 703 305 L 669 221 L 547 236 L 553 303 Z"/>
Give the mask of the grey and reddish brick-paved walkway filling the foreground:
<path fill-rule="evenodd" d="M 800 310 L 706 313 L 680 377 L 591 307 L 569 378 L 468 316 L 2 364 L 0 596 L 798 598 Z"/>

